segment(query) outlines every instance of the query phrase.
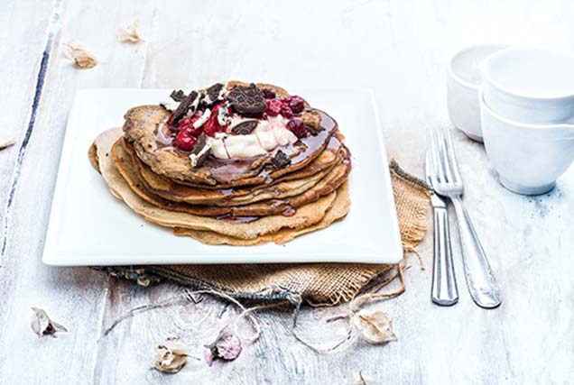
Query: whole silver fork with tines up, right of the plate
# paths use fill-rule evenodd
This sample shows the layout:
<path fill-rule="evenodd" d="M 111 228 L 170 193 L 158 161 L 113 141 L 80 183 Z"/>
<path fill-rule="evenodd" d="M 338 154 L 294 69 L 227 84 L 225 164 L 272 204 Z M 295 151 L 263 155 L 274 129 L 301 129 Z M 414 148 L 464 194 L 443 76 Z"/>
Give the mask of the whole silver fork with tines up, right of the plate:
<path fill-rule="evenodd" d="M 431 185 L 438 194 L 450 198 L 457 213 L 462 261 L 470 297 L 479 307 L 497 307 L 500 305 L 498 283 L 462 203 L 462 179 L 449 131 L 430 130 L 429 144 Z"/>

